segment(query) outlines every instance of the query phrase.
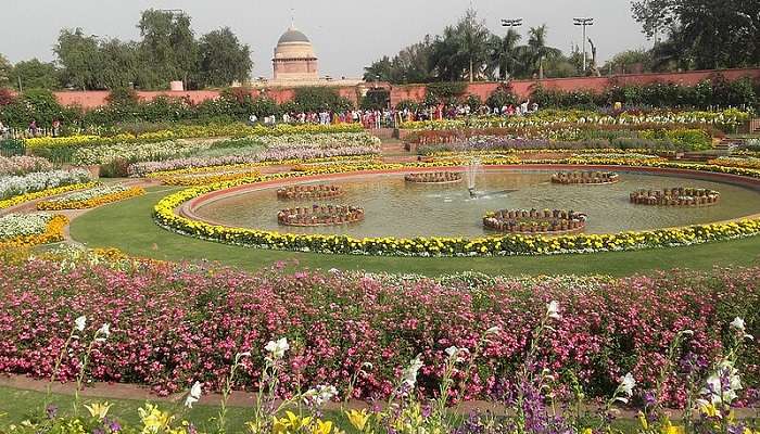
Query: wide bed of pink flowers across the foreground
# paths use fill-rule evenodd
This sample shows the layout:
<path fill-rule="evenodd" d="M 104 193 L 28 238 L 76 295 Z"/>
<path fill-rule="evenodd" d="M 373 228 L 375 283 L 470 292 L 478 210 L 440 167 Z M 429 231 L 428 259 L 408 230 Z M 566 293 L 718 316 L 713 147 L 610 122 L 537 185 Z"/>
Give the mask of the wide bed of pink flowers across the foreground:
<path fill-rule="evenodd" d="M 515 378 L 530 331 L 546 303 L 557 301 L 562 318 L 541 343 L 540 363 L 559 374 L 574 372 L 591 395 L 601 396 L 628 371 L 651 387 L 679 331 L 694 331 L 683 350 L 707 367 L 730 339 L 735 316 L 745 318 L 750 334 L 760 328 L 760 268 L 620 280 L 436 281 L 156 264 L 61 271 L 59 264 L 35 260 L 0 264 L 0 372 L 50 375 L 74 319 L 87 315 L 90 334 L 104 322 L 112 332 L 93 354 L 92 378 L 148 384 L 159 394 L 186 390 L 195 380 L 218 387 L 235 354 L 244 350 L 253 355 L 237 386 L 253 388 L 265 343 L 287 336 L 282 394 L 296 383 L 345 390 L 356 370 L 371 362 L 355 394 L 384 396 L 393 378 L 421 354 L 420 386 L 432 395 L 444 349 L 474 348 L 483 331 L 498 326 L 467 383 L 468 398 L 489 397 Z M 73 345 L 74 354 L 84 350 Z M 752 342 L 740 358 L 747 388 L 758 384 L 759 356 Z M 62 372 L 74 378 L 76 360 L 64 358 Z M 676 380 L 667 391 L 672 400 L 684 396 Z"/>

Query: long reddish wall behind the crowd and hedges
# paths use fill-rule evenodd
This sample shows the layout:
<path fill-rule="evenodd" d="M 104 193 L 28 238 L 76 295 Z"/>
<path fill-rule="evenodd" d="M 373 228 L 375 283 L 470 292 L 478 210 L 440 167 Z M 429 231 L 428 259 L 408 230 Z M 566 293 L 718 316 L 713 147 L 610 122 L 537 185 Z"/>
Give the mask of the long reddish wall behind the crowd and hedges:
<path fill-rule="evenodd" d="M 677 85 L 694 86 L 699 81 L 710 78 L 714 74 L 723 75 L 727 80 L 733 81 L 742 77 L 751 77 L 760 79 L 760 68 L 746 69 L 723 69 L 723 71 L 692 71 L 686 73 L 668 73 L 668 74 L 626 74 L 613 75 L 609 77 L 571 77 L 571 78 L 547 78 L 543 80 L 512 80 L 512 90 L 521 99 L 530 97 L 535 85 L 541 85 L 545 89 L 574 91 L 574 90 L 591 90 L 601 92 L 605 88 L 612 85 L 648 85 L 653 82 L 673 82 Z M 421 102 L 425 100 L 427 90 L 426 85 L 402 85 L 390 86 L 380 84 L 384 88 L 391 89 L 391 104 L 395 106 L 398 102 L 410 100 Z M 474 94 L 485 100 L 498 87 L 498 82 L 479 81 L 469 84 L 466 93 Z M 353 103 L 358 103 L 362 90 L 367 85 L 359 86 L 343 86 L 337 87 L 338 93 L 341 97 L 347 98 Z M 169 98 L 187 98 L 192 103 L 198 104 L 206 100 L 216 99 L 219 97 L 218 90 L 189 90 L 182 92 L 157 91 L 137 92 L 139 98 L 144 101 L 152 101 L 157 95 Z M 295 88 L 265 88 L 252 89 L 251 94 L 254 97 L 266 95 L 277 103 L 291 101 L 295 97 Z M 96 108 L 105 105 L 107 91 L 66 91 L 55 92 L 55 97 L 63 105 L 80 105 L 86 110 Z"/>

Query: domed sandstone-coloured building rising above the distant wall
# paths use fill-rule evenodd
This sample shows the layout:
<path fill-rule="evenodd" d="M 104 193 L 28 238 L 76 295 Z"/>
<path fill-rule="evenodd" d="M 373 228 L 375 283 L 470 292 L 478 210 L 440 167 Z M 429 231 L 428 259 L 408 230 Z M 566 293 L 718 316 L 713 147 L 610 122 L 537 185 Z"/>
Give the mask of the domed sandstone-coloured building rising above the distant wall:
<path fill-rule="evenodd" d="M 312 41 L 293 25 L 277 41 L 275 59 L 271 63 L 275 69 L 275 81 L 319 79 L 317 56 L 314 54 Z"/>

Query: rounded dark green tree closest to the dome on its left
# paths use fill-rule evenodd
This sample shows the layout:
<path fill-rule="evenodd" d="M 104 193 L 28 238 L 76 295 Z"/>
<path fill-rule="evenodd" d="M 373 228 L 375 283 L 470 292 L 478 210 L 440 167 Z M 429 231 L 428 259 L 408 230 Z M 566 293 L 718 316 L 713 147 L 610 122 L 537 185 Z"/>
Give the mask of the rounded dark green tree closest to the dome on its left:
<path fill-rule="evenodd" d="M 251 49 L 240 43 L 229 27 L 211 31 L 200 40 L 200 74 L 204 86 L 229 86 L 251 74 Z"/>

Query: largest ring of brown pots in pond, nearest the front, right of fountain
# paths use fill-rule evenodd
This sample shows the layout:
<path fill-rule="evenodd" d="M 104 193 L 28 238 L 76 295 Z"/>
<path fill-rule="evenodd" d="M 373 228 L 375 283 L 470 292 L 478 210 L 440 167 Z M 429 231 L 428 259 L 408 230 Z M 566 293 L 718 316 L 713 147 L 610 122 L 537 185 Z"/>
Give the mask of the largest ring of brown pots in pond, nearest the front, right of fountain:
<path fill-rule="evenodd" d="M 586 215 L 563 209 L 502 209 L 486 214 L 483 226 L 508 233 L 575 233 L 585 230 Z"/>

